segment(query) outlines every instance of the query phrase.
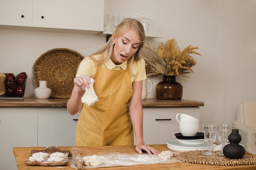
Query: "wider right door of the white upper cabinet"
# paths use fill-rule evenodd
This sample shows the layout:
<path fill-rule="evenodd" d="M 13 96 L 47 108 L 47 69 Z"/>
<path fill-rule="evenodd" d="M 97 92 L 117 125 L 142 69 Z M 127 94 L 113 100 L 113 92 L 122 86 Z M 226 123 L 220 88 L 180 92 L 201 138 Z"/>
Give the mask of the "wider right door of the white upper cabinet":
<path fill-rule="evenodd" d="M 34 0 L 33 27 L 103 31 L 104 0 Z"/>

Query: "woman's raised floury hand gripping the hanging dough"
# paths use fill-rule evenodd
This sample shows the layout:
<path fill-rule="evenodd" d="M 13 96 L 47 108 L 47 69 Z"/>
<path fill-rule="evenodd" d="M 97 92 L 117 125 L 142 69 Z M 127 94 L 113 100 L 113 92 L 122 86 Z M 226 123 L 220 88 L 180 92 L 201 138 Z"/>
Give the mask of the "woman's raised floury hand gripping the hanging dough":
<path fill-rule="evenodd" d="M 79 76 L 74 78 L 74 84 L 75 84 L 74 86 L 75 86 L 77 92 L 83 92 L 84 93 L 85 86 L 87 86 L 89 88 L 90 83 L 91 83 L 91 78 L 87 74 L 79 75 Z"/>

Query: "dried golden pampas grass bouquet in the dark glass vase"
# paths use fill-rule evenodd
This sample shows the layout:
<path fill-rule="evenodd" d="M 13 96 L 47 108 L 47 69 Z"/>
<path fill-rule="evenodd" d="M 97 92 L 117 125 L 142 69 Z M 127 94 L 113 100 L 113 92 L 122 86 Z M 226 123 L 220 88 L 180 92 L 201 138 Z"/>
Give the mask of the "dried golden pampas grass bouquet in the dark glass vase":
<path fill-rule="evenodd" d="M 179 75 L 188 77 L 184 74 L 193 73 L 192 66 L 197 64 L 191 54 L 201 55 L 196 52 L 197 46 L 187 46 L 180 51 L 179 46 L 174 38 L 167 42 L 159 42 L 158 48 L 152 44 L 146 43 L 141 50 L 146 65 L 151 66 L 148 75 Z M 202 55 L 201 55 L 202 56 Z"/>

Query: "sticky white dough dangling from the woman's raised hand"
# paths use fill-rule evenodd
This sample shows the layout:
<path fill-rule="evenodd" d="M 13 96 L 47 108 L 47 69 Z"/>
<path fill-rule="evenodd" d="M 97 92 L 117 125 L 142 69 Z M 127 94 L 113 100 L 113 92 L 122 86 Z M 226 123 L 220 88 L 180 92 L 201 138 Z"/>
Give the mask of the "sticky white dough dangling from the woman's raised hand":
<path fill-rule="evenodd" d="M 93 84 L 94 79 L 91 77 L 91 84 L 89 84 L 90 87 L 88 88 L 85 86 L 85 93 L 81 99 L 82 103 L 87 104 L 88 106 L 91 106 L 95 102 L 99 101 L 98 96 L 94 91 Z"/>

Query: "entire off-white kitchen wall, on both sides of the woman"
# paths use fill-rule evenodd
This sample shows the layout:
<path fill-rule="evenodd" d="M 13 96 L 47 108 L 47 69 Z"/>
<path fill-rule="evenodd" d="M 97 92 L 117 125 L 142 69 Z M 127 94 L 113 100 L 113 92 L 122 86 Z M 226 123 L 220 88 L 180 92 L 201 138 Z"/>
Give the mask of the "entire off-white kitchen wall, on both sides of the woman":
<path fill-rule="evenodd" d="M 230 124 L 238 104 L 256 100 L 256 0 L 105 0 L 105 13 L 154 22 L 154 34 L 175 38 L 184 49 L 198 46 L 201 56 L 183 85 L 183 99 L 203 101 L 200 124 Z M 112 31 L 111 22 L 107 31 Z M 94 35 L 0 30 L 0 72 L 27 72 L 25 97 L 34 96 L 32 66 L 49 49 L 69 48 L 86 56 L 105 43 Z M 158 76 L 153 86 L 162 81 Z M 148 94 L 155 97 L 155 89 Z"/>

